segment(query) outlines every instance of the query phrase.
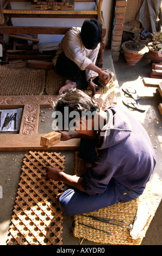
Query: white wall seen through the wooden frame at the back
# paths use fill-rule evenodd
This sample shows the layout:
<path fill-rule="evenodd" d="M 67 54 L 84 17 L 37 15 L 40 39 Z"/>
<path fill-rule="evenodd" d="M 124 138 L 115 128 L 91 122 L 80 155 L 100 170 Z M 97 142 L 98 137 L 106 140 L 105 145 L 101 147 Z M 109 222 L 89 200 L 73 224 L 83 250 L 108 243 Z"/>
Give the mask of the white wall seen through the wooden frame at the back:
<path fill-rule="evenodd" d="M 105 36 L 105 45 L 108 43 L 108 32 L 111 12 L 111 2 L 113 0 L 103 0 L 102 11 L 104 23 L 107 27 L 107 35 Z M 4 3 L 4 0 L 1 0 Z M 12 9 L 30 10 L 30 2 L 11 2 Z M 75 3 L 75 10 L 93 10 L 95 3 Z M 54 18 L 12 18 L 14 26 L 53 26 L 53 27 L 81 27 L 85 19 L 54 19 Z M 60 41 L 62 35 L 38 35 L 40 42 Z"/>

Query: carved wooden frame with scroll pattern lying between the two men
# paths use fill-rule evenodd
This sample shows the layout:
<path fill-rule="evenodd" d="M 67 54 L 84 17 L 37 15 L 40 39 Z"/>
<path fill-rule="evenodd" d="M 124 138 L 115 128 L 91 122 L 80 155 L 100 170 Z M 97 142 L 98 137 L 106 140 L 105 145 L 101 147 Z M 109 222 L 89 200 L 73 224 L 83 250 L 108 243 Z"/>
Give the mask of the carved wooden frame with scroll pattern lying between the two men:
<path fill-rule="evenodd" d="M 40 108 L 51 107 L 57 95 L 41 96 L 0 96 L 1 109 L 23 107 L 18 134 L 0 134 L 0 151 L 47 150 L 40 146 L 42 133 L 38 133 Z M 79 148 L 79 139 L 60 141 L 48 150 L 75 150 Z"/>

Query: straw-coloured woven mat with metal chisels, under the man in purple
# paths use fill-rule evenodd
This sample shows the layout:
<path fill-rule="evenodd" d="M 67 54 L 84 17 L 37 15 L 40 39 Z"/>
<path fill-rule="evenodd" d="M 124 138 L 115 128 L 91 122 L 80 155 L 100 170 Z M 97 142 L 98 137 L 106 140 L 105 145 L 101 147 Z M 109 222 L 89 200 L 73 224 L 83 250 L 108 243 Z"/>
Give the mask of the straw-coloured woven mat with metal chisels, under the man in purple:
<path fill-rule="evenodd" d="M 79 173 L 80 170 L 84 168 L 84 163 L 82 159 L 78 157 L 78 153 L 75 155 L 75 174 Z M 129 225 L 134 223 L 134 218 L 138 210 L 138 205 L 145 199 L 150 199 L 153 207 L 153 213 L 148 218 L 148 221 L 142 230 L 141 236 L 139 239 L 133 240 L 129 234 Z M 89 214 L 76 215 L 73 217 L 73 235 L 78 237 L 80 240 L 87 239 L 92 242 L 102 243 L 102 244 L 111 244 L 111 245 L 140 245 L 142 239 L 144 238 L 146 231 L 149 227 L 149 224 L 152 221 L 152 218 L 155 214 L 155 211 L 158 208 L 160 203 L 158 197 L 155 197 L 149 186 L 146 187 L 144 193 L 136 200 L 132 200 L 128 203 L 117 203 L 113 206 L 103 208 L 98 211 L 90 212 Z M 111 220 L 120 220 L 126 222 L 126 224 L 117 222 L 117 224 L 124 225 L 125 228 L 119 227 L 117 225 L 111 225 L 103 222 L 93 220 L 87 215 L 109 218 Z M 86 227 L 82 224 L 89 225 L 90 227 L 95 227 L 101 230 L 109 231 L 113 235 L 103 233 L 102 231 Z"/>

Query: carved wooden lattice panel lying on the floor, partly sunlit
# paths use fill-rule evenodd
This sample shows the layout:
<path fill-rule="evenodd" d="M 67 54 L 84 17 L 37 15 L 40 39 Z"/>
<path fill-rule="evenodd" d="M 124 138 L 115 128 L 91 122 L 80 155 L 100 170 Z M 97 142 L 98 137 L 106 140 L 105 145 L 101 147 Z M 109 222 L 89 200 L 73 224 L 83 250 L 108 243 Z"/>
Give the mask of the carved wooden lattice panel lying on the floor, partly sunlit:
<path fill-rule="evenodd" d="M 64 184 L 48 180 L 45 163 L 64 170 L 65 156 L 39 151 L 24 155 L 8 245 L 62 245 L 58 198 Z"/>

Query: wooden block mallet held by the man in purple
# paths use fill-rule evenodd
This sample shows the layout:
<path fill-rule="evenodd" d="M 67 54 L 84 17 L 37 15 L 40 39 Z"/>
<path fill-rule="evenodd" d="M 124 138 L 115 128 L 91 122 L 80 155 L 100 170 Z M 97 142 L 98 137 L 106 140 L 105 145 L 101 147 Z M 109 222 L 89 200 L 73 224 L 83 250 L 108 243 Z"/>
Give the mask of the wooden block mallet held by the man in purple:
<path fill-rule="evenodd" d="M 50 148 L 52 145 L 55 145 L 60 142 L 61 139 L 61 133 L 59 132 L 49 132 L 46 135 L 41 137 L 40 145 L 42 147 Z"/>

